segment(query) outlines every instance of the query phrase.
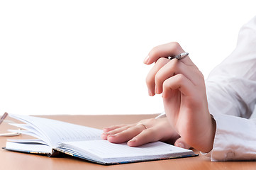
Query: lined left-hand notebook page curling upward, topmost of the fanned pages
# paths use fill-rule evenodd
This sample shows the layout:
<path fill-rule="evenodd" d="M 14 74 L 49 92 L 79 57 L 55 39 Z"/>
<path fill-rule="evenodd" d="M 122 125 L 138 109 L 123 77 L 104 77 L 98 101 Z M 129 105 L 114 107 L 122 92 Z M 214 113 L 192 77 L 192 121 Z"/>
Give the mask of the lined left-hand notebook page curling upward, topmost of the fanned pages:
<path fill-rule="evenodd" d="M 95 128 L 28 115 L 11 115 L 11 117 L 21 120 L 23 123 L 40 131 L 40 133 L 48 138 L 46 141 L 49 140 L 49 145 L 52 147 L 55 147 L 57 142 L 101 139 L 102 130 Z"/>

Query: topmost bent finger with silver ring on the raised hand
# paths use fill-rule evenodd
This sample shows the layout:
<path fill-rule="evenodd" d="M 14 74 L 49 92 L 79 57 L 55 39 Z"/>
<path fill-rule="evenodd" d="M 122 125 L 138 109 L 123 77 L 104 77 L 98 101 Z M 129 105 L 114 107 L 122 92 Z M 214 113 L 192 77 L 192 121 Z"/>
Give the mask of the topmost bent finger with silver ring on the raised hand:
<path fill-rule="evenodd" d="M 156 62 L 161 57 L 169 57 L 169 56 L 176 56 L 184 52 L 182 47 L 179 45 L 178 42 L 169 42 L 167 44 L 158 45 L 154 47 L 148 54 L 148 57 L 144 60 L 145 64 L 152 64 Z M 189 57 L 185 57 L 184 59 L 180 60 L 186 64 L 193 64 Z M 194 65 L 194 64 L 193 64 Z"/>

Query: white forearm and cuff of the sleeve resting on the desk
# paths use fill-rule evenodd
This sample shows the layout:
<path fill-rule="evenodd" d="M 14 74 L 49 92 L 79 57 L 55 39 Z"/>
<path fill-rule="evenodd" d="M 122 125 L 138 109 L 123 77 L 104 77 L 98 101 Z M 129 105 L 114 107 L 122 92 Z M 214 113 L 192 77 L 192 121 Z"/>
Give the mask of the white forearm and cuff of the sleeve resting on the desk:
<path fill-rule="evenodd" d="M 233 115 L 214 115 L 216 135 L 207 153 L 212 162 L 256 159 L 256 125 Z"/>

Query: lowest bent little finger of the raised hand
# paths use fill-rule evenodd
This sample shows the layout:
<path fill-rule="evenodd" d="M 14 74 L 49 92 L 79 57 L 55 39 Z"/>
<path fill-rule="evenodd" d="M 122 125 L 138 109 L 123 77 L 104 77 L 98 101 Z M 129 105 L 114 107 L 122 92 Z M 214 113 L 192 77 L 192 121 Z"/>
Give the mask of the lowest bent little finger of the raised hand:
<path fill-rule="evenodd" d="M 185 96 L 191 96 L 194 91 L 194 84 L 184 76 L 184 74 L 177 74 L 163 83 L 162 97 L 171 97 L 172 90 L 178 89 Z"/>

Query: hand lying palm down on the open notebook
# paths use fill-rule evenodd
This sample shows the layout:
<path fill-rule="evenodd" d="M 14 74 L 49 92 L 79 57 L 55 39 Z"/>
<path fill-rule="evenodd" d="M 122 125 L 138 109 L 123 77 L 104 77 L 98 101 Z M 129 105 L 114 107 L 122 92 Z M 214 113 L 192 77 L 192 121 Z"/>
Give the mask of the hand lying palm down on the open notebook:
<path fill-rule="evenodd" d="M 143 123 L 146 127 L 140 123 Z M 183 147 L 185 149 L 190 148 L 177 132 L 172 130 L 167 118 L 145 119 L 130 125 L 113 125 L 104 128 L 104 133 L 101 135 L 101 138 L 113 143 L 128 142 L 130 147 L 138 147 L 149 142 L 160 140 L 177 147 Z"/>

